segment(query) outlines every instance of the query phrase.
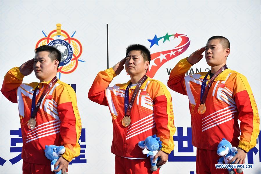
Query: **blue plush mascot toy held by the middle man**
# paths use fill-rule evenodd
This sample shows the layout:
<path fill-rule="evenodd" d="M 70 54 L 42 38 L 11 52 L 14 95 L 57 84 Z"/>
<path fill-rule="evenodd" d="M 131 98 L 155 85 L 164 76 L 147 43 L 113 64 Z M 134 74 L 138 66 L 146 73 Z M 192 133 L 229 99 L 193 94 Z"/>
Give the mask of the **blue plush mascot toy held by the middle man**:
<path fill-rule="evenodd" d="M 142 153 L 144 155 L 147 154 L 147 157 L 150 155 L 150 164 L 151 164 L 151 171 L 156 171 L 158 169 L 157 162 L 160 160 L 159 158 L 156 159 L 156 161 L 153 161 L 154 156 L 158 153 L 159 150 L 161 150 L 162 142 L 159 141 L 159 137 L 156 135 L 149 136 L 145 139 L 145 141 L 140 141 L 138 143 L 138 146 L 142 148 Z"/>

